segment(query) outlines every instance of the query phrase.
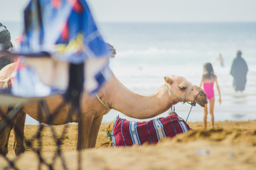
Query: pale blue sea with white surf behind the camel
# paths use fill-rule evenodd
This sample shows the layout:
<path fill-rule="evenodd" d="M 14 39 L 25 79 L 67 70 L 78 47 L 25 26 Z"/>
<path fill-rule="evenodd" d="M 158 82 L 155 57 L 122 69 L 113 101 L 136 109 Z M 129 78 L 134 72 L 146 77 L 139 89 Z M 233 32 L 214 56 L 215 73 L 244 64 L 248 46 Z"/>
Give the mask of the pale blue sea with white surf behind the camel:
<path fill-rule="evenodd" d="M 14 42 L 21 35 L 22 24 L 6 22 L 4 25 Z M 171 74 L 199 85 L 203 64 L 210 62 L 223 101 L 218 104 L 215 88 L 215 121 L 256 119 L 256 23 L 97 23 L 97 26 L 105 41 L 117 50 L 116 57 L 110 59 L 112 71 L 134 93 L 143 96 L 156 93 L 164 84 L 163 77 Z M 245 91 L 239 96 L 230 75 L 238 50 L 249 67 Z M 224 67 L 217 60 L 219 54 L 223 56 Z M 186 120 L 190 106 L 178 103 L 175 108 Z M 157 117 L 165 117 L 169 112 Z M 117 115 L 136 120 L 112 110 L 102 123 L 110 123 Z M 188 122 L 202 120 L 203 108 L 197 105 L 192 108 Z M 27 116 L 26 124 L 37 124 L 37 121 Z"/>

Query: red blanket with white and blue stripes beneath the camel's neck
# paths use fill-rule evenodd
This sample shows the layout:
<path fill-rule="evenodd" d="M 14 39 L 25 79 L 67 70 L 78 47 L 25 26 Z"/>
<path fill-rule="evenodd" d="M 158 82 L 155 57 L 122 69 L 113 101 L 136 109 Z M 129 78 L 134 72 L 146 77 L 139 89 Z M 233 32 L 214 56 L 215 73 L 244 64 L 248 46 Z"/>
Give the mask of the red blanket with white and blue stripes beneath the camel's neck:
<path fill-rule="evenodd" d="M 165 137 L 174 137 L 188 130 L 188 124 L 175 112 L 171 112 L 166 118 L 142 123 L 117 118 L 113 124 L 112 141 L 114 147 L 142 145 L 144 142 L 156 143 Z"/>

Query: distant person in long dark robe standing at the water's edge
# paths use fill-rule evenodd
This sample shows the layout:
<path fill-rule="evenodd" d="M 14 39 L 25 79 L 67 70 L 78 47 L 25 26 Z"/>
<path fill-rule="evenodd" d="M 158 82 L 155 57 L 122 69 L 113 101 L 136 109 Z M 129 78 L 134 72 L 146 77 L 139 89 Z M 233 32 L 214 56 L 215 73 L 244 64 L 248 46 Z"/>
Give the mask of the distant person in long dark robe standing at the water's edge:
<path fill-rule="evenodd" d="M 237 57 L 233 60 L 230 74 L 234 77 L 233 86 L 235 91 L 244 91 L 248 67 L 242 58 L 242 52 L 238 50 Z"/>

